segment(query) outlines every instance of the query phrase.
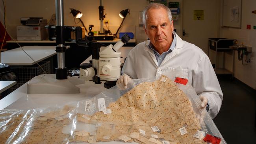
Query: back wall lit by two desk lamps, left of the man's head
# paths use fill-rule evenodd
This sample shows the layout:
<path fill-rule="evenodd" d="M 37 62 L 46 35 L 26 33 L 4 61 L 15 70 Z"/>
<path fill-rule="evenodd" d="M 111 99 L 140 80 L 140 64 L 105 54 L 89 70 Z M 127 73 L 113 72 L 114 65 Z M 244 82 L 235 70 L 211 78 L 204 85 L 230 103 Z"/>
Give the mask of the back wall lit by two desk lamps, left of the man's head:
<path fill-rule="evenodd" d="M 130 9 L 119 32 L 133 32 L 136 42 L 145 41 L 147 36 L 143 27 L 139 27 L 139 12 L 148 4 L 148 0 L 102 0 L 104 13 L 109 20 L 109 26 L 104 24 L 104 28 L 116 33 L 122 22 L 119 17 L 121 10 Z M 20 24 L 21 17 L 43 17 L 48 21 L 55 11 L 55 0 L 4 0 L 6 5 L 6 27 L 7 32 L 16 37 L 16 26 Z M 78 19 L 74 19 L 70 14 L 70 8 L 77 9 L 83 13 L 82 21 L 88 27 L 93 24 L 93 30 L 100 30 L 99 9 L 100 0 L 63 0 L 64 24 L 69 26 L 82 26 Z M 4 24 L 4 7 L 0 2 L 0 20 Z M 76 23 L 78 24 L 76 24 Z"/>

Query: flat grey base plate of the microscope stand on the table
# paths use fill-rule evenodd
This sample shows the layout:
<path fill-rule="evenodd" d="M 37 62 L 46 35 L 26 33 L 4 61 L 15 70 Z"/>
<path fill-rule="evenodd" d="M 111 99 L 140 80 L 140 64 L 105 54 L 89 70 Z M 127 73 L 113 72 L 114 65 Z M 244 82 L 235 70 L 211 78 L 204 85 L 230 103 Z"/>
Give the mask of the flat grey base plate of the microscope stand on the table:
<path fill-rule="evenodd" d="M 28 94 L 76 94 L 80 88 L 75 85 L 83 84 L 80 78 L 68 77 L 67 79 L 56 79 L 55 74 L 42 74 L 28 82 Z"/>

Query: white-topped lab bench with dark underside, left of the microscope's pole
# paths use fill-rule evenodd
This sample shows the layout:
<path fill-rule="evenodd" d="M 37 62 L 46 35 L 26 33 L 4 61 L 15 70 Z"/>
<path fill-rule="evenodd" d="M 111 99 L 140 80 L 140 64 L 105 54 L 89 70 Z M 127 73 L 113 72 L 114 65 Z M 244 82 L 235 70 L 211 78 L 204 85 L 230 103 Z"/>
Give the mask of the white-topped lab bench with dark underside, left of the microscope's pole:
<path fill-rule="evenodd" d="M 23 52 L 22 48 L 33 60 Z M 10 66 L 10 72 L 15 73 L 17 80 L 17 84 L 9 87 L 7 93 L 17 89 L 34 76 L 43 74 L 43 70 L 46 74 L 54 73 L 54 57 L 57 54 L 55 46 L 23 46 L 22 48 L 2 52 L 1 62 Z"/>

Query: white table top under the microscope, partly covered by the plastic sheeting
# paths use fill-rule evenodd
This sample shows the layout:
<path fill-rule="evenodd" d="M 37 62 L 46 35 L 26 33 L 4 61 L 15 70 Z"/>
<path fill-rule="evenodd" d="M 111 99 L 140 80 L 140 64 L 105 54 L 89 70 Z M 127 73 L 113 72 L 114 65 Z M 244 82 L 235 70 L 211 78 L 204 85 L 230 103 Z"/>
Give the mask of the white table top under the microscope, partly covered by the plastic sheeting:
<path fill-rule="evenodd" d="M 27 94 L 27 83 L 24 83 L 24 85 L 0 100 L 0 109 L 36 109 L 65 105 L 91 98 L 106 90 L 103 86 L 104 81 L 101 84 L 85 81 L 84 84 L 76 85 L 80 88 L 80 93 L 78 94 Z"/>

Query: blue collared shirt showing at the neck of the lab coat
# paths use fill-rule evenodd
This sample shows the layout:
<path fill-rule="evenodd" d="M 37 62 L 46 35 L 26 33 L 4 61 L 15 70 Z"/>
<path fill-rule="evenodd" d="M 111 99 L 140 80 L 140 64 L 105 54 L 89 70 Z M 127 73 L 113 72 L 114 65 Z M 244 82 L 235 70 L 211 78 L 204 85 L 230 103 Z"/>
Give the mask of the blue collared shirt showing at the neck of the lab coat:
<path fill-rule="evenodd" d="M 169 50 L 167 52 L 163 52 L 161 55 L 155 50 L 155 48 L 151 42 L 148 44 L 148 48 L 154 51 L 154 54 L 156 56 L 156 61 L 158 62 L 158 66 L 161 65 L 161 63 L 163 62 L 163 59 L 165 59 L 166 55 L 173 51 L 175 46 L 176 46 L 175 34 L 173 34 L 173 42 L 172 42 Z"/>

